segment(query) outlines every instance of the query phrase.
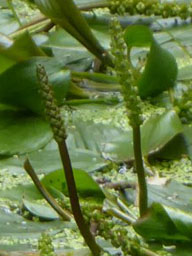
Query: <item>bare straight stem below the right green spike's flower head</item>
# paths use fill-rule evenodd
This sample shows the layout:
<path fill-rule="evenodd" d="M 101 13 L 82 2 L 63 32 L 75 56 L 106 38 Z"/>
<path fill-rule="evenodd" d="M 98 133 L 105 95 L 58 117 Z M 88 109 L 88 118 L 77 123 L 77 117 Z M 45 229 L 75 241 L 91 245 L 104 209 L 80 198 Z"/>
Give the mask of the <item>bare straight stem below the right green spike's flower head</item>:
<path fill-rule="evenodd" d="M 147 184 L 145 180 L 145 170 L 142 160 L 141 151 L 141 132 L 140 125 L 133 127 L 133 147 L 135 156 L 135 167 L 138 177 L 139 186 L 139 212 L 140 216 L 143 216 L 147 211 Z"/>

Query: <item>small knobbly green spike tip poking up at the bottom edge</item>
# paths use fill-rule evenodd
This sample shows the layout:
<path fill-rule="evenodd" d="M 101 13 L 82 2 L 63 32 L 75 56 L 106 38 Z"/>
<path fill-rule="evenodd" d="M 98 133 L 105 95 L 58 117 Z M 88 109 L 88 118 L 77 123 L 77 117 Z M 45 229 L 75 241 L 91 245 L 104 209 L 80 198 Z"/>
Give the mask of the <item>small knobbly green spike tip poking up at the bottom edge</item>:
<path fill-rule="evenodd" d="M 47 233 L 42 233 L 38 241 L 38 249 L 40 256 L 57 256 L 54 252 L 51 236 Z"/>

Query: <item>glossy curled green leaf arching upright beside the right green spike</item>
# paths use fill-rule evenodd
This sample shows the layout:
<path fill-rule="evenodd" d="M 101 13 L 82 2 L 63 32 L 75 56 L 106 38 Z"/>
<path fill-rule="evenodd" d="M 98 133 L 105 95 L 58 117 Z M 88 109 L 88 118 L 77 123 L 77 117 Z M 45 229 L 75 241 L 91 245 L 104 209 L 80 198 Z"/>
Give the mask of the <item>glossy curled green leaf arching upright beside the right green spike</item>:
<path fill-rule="evenodd" d="M 125 41 L 129 49 L 133 46 L 150 46 L 145 69 L 138 79 L 141 98 L 156 96 L 175 85 L 177 78 L 175 58 L 157 43 L 149 28 L 141 25 L 127 27 Z"/>

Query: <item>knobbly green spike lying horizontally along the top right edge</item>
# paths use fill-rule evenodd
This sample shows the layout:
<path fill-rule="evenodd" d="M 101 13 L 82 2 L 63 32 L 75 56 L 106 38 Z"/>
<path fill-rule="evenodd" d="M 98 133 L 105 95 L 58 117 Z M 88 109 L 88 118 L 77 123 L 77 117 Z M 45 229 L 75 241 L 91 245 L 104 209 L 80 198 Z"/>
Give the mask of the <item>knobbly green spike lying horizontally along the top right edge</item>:
<path fill-rule="evenodd" d="M 159 0 L 110 0 L 110 11 L 120 15 L 129 13 L 130 15 L 143 14 L 187 19 L 192 17 L 192 3 L 160 3 Z"/>

